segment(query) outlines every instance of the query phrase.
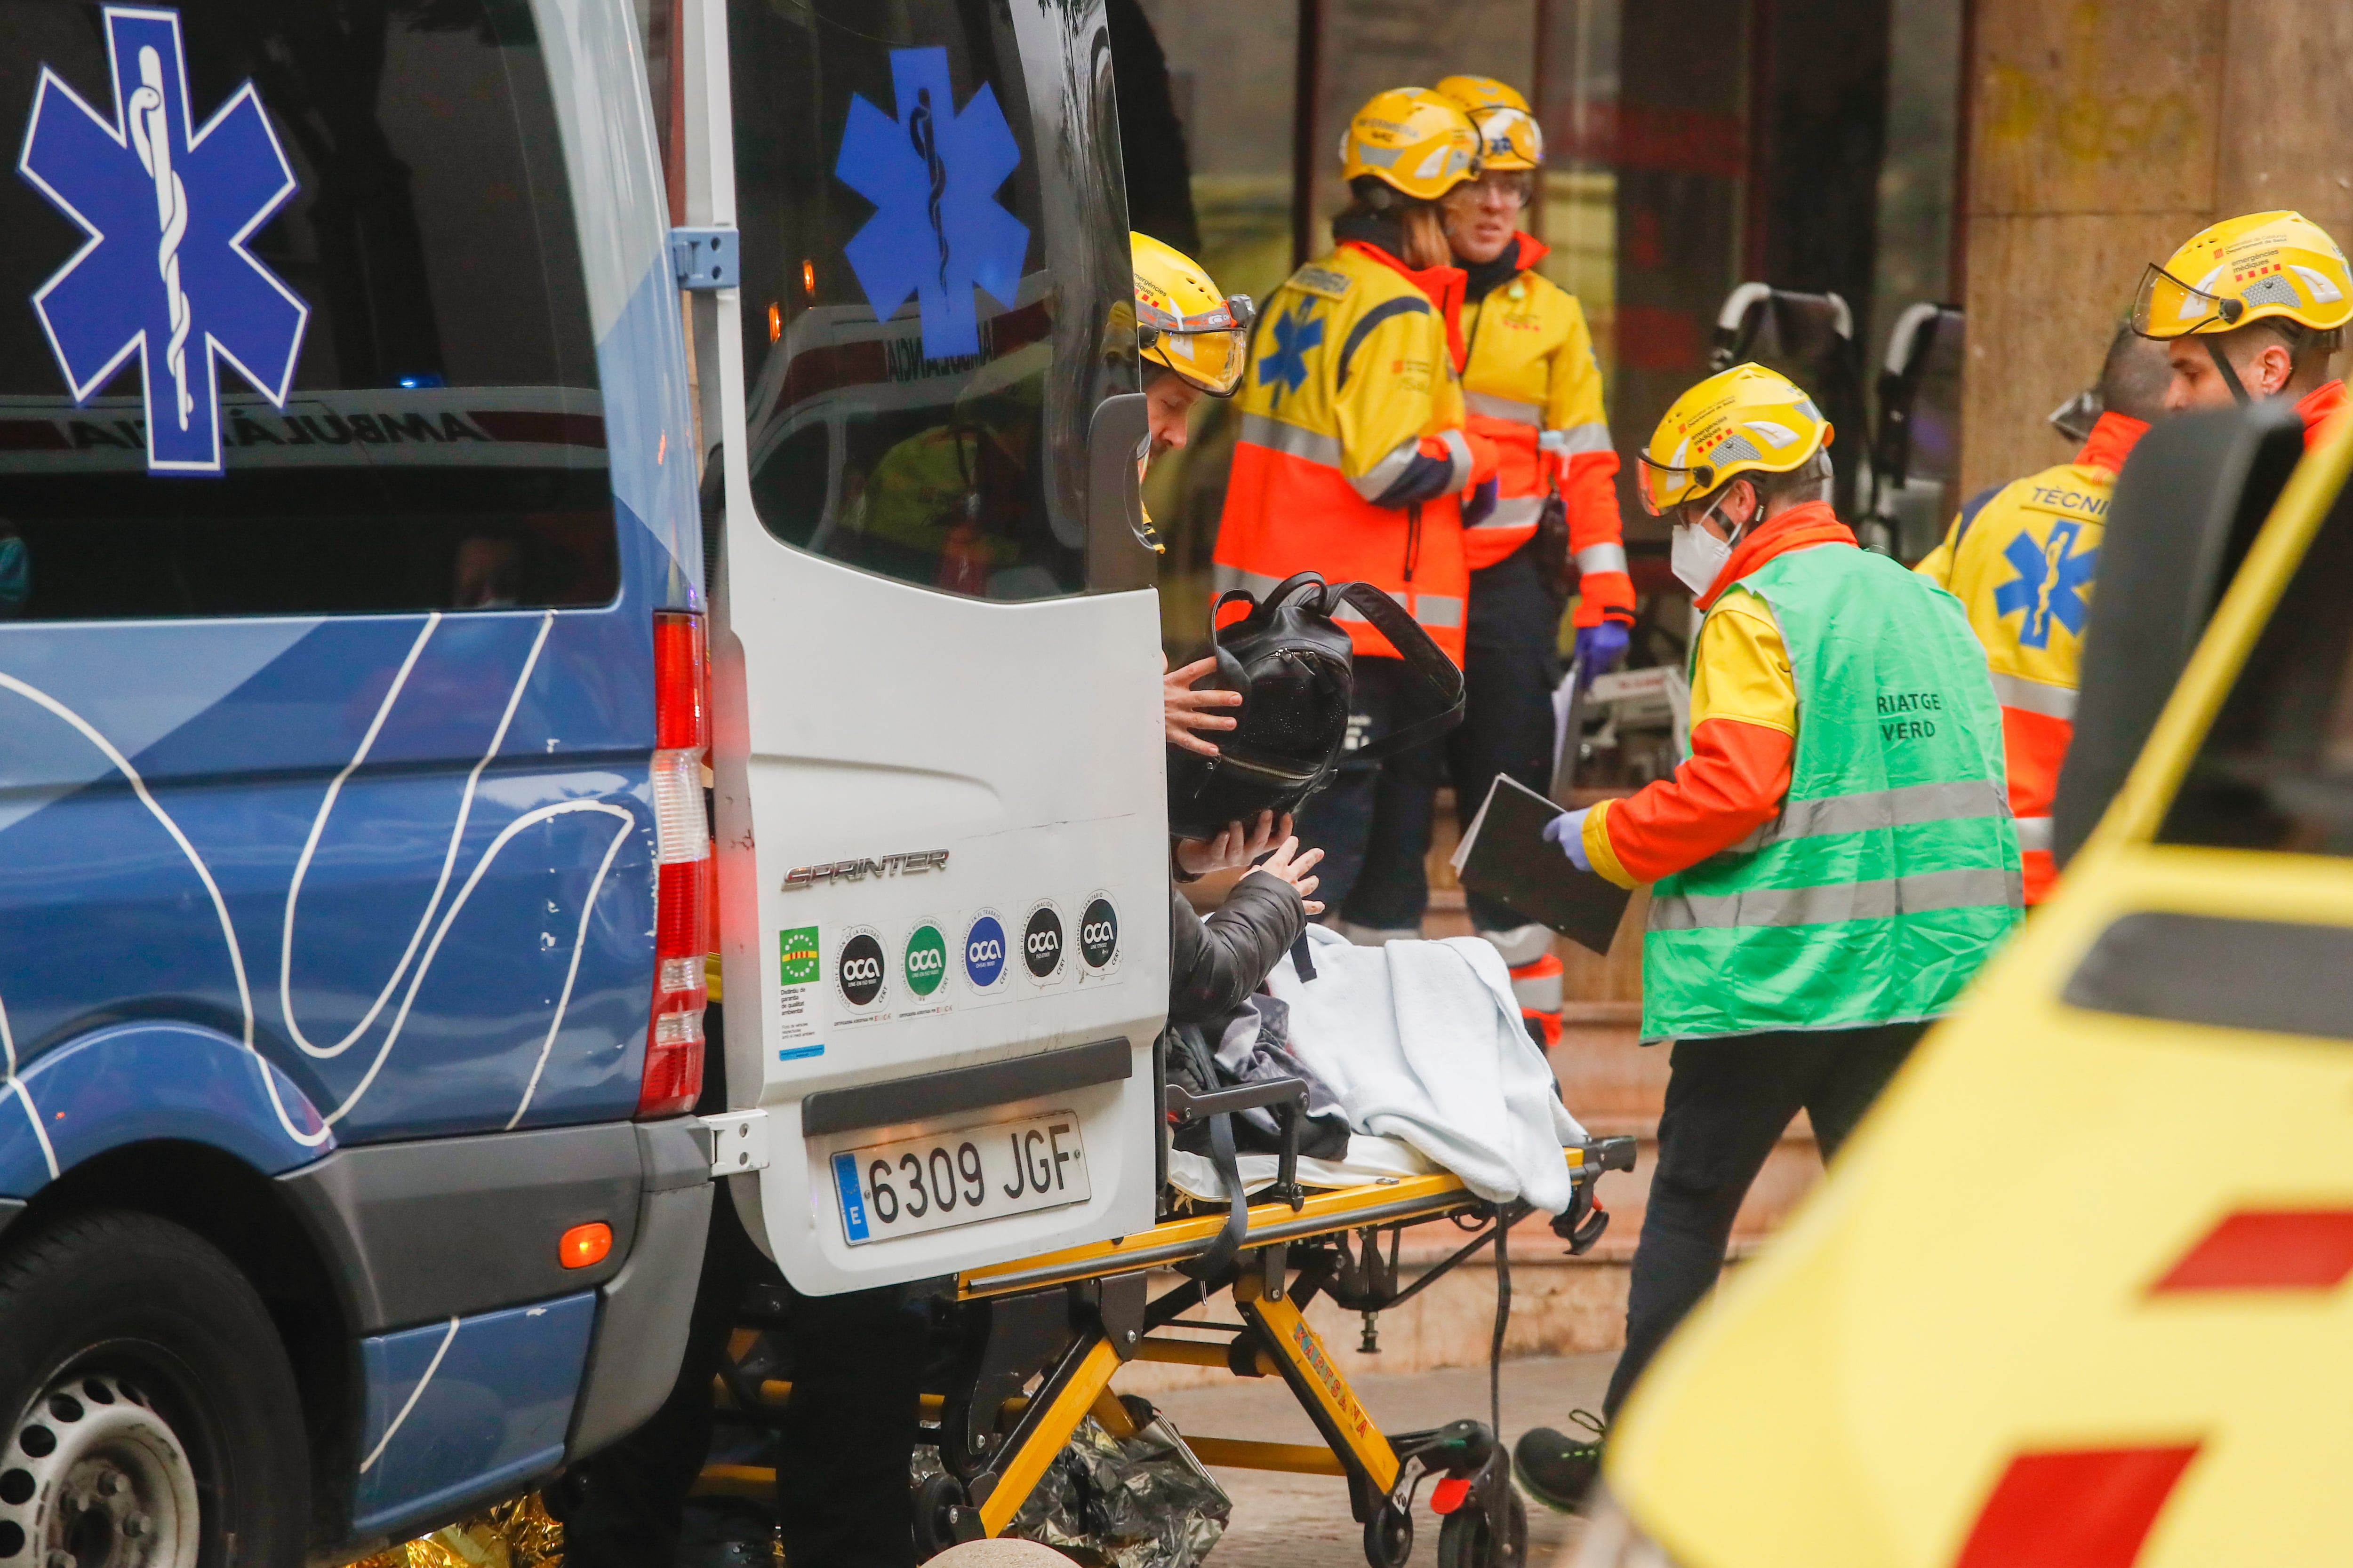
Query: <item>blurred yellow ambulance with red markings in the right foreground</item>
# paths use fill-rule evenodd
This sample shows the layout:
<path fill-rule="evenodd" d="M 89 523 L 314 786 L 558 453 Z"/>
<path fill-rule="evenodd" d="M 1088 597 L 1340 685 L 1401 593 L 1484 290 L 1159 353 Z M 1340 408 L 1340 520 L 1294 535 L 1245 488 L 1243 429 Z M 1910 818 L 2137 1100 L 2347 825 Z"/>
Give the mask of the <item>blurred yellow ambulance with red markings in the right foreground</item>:
<path fill-rule="evenodd" d="M 2353 1561 L 2353 437 L 2299 437 L 2127 465 L 2057 898 L 1654 1363 L 1572 1561 Z"/>

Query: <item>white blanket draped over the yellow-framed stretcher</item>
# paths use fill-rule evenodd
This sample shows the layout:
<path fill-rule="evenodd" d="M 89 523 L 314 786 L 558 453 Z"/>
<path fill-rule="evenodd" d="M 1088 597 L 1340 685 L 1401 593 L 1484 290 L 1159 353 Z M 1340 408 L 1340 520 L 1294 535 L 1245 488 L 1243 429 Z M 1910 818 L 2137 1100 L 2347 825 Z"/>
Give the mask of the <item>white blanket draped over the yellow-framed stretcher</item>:
<path fill-rule="evenodd" d="M 1569 1206 L 1565 1143 L 1586 1131 L 1520 1023 L 1504 957 L 1475 936 L 1355 947 L 1308 926 L 1315 980 L 1292 959 L 1268 990 L 1292 1006 L 1292 1051 L 1358 1133 L 1398 1138 L 1501 1204 Z"/>

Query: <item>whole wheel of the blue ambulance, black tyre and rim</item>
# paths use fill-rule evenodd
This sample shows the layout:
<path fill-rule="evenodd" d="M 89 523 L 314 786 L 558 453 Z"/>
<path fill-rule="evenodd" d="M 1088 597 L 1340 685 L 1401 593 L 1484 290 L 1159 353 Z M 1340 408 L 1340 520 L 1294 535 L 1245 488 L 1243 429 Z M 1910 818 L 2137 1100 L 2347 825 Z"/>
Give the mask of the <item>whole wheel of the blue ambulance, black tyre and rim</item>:
<path fill-rule="evenodd" d="M 0 1255 L 0 1568 L 301 1568 L 311 1458 L 252 1284 L 144 1213 Z"/>

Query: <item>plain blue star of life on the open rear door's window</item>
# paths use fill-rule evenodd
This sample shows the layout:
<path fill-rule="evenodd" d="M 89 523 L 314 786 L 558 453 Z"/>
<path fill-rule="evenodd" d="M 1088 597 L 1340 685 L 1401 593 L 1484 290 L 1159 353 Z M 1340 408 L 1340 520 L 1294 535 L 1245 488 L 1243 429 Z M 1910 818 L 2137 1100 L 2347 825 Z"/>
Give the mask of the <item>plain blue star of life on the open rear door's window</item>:
<path fill-rule="evenodd" d="M 946 49 L 892 49 L 889 78 L 899 118 L 852 94 L 833 165 L 875 205 L 845 249 L 849 270 L 878 322 L 915 296 L 925 360 L 976 355 L 972 289 L 1012 306 L 1021 287 L 1028 223 L 998 202 L 1021 148 L 988 82 L 955 108 Z"/>

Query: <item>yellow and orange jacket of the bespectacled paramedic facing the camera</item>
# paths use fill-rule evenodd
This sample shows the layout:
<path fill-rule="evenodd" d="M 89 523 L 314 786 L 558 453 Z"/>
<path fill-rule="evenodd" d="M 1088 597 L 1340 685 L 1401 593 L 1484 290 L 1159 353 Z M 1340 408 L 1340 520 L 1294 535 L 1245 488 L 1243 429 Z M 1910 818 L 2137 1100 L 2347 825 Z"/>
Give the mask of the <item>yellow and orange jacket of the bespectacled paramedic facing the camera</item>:
<path fill-rule="evenodd" d="M 1471 430 L 1494 442 L 1499 463 L 1494 512 L 1464 529 L 1464 555 L 1478 571 L 1525 545 L 1558 489 L 1579 574 L 1577 625 L 1633 625 L 1619 461 L 1586 310 L 1537 270 L 1548 254 L 1541 240 L 1518 235 L 1515 244 L 1520 275 L 1464 303 L 1464 402 Z"/>

